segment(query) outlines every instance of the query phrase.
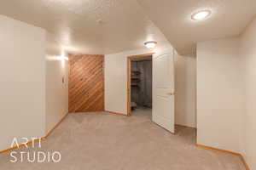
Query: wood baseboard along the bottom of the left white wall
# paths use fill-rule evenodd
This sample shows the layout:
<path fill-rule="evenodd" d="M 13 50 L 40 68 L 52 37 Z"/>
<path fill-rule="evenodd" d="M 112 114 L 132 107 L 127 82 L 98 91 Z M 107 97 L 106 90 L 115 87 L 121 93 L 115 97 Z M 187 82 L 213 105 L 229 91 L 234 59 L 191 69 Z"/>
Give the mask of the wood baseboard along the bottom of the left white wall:
<path fill-rule="evenodd" d="M 67 113 L 65 116 L 63 116 L 63 117 L 61 118 L 61 121 L 58 122 L 58 123 L 55 125 L 55 127 L 53 127 L 53 128 L 49 131 L 49 133 L 47 133 L 44 137 L 42 137 L 42 138 L 40 138 L 40 139 L 35 139 L 35 140 L 33 140 L 33 141 L 29 141 L 29 142 L 27 142 L 26 144 L 19 144 L 19 145 L 13 147 L 13 148 L 9 148 L 9 149 L 7 149 L 7 150 L 2 150 L 2 151 L 0 151 L 0 154 L 6 153 L 6 152 L 9 152 L 9 151 L 12 151 L 12 150 L 16 150 L 16 149 L 19 149 L 19 148 L 23 148 L 23 147 L 25 147 L 26 145 L 30 145 L 30 144 L 33 144 L 33 143 L 38 143 L 40 140 L 41 140 L 41 141 L 46 140 L 46 139 L 49 137 L 50 133 L 52 133 L 52 132 L 55 130 L 55 128 L 58 127 L 58 126 L 61 124 L 61 122 L 66 118 L 67 115 L 68 115 L 68 113 Z"/>

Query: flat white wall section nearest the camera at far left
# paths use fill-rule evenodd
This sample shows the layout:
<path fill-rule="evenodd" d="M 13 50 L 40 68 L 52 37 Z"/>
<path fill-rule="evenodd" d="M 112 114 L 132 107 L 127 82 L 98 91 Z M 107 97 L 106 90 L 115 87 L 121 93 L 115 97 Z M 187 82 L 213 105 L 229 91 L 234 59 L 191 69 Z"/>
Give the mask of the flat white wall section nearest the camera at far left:
<path fill-rule="evenodd" d="M 0 150 L 44 136 L 45 31 L 0 15 Z"/>

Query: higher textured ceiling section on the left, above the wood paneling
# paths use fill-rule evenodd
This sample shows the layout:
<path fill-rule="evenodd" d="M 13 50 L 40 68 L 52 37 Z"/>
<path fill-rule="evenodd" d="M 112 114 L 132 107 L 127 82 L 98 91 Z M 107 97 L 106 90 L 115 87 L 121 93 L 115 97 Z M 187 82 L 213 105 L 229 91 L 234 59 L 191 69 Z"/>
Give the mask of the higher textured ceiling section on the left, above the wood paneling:
<path fill-rule="evenodd" d="M 3 0 L 0 14 L 45 28 L 67 52 L 111 54 L 167 42 L 136 0 Z"/>

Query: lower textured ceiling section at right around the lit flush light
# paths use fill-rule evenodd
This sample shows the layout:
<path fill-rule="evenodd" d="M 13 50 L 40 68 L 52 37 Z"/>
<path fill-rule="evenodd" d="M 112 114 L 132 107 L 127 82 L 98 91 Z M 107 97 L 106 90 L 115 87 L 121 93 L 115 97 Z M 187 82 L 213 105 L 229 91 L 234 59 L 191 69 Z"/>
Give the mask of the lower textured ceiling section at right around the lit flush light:
<path fill-rule="evenodd" d="M 256 0 L 137 0 L 180 54 L 195 52 L 196 42 L 238 36 L 256 14 Z M 207 20 L 191 14 L 210 9 Z"/>

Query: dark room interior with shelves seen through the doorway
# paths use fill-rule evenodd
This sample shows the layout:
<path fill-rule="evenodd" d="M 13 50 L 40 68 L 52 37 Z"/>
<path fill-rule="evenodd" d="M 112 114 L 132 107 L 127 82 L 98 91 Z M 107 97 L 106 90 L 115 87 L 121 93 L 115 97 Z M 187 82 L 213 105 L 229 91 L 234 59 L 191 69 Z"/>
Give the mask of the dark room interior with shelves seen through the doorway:
<path fill-rule="evenodd" d="M 131 60 L 131 108 L 152 107 L 152 58 Z"/>

